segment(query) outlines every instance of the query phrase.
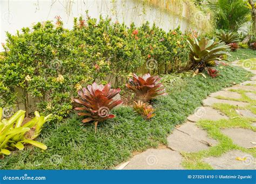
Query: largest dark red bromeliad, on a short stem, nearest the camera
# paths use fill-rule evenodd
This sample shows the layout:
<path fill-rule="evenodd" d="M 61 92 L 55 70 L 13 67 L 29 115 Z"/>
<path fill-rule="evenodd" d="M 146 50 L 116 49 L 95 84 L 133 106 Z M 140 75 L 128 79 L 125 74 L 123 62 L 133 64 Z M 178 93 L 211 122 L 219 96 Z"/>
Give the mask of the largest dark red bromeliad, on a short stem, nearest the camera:
<path fill-rule="evenodd" d="M 78 112 L 79 116 L 87 116 L 83 119 L 83 123 L 95 122 L 95 132 L 97 131 L 98 122 L 105 121 L 106 119 L 113 118 L 114 115 L 110 114 L 110 110 L 119 104 L 122 100 L 113 100 L 113 97 L 119 94 L 120 89 L 111 89 L 111 84 L 106 86 L 93 83 L 92 85 L 78 91 L 81 99 L 75 99 L 75 102 L 82 104 L 84 107 L 77 107 L 76 110 L 85 112 Z"/>

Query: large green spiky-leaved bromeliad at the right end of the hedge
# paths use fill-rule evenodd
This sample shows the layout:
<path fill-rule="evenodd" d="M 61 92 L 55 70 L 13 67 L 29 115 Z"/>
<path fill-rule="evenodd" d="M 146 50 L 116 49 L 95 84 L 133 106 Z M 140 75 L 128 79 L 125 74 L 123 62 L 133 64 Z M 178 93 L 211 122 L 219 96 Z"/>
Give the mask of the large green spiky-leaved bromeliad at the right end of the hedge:
<path fill-rule="evenodd" d="M 206 38 L 198 40 L 194 37 L 193 39 L 189 38 L 187 43 L 190 46 L 192 68 L 199 69 L 200 72 L 211 61 L 221 60 L 224 55 L 230 55 L 227 53 L 230 46 L 223 42 L 215 42 Z"/>

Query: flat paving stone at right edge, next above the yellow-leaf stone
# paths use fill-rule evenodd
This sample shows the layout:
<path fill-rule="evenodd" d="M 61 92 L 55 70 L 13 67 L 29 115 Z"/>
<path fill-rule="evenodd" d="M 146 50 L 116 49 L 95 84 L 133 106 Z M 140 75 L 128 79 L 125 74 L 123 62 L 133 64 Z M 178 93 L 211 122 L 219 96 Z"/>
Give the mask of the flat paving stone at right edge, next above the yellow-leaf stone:
<path fill-rule="evenodd" d="M 234 144 L 241 147 L 251 148 L 256 146 L 256 132 L 248 129 L 234 128 L 234 129 L 221 129 L 224 135 L 230 137 Z M 253 142 L 253 143 L 252 143 Z"/>

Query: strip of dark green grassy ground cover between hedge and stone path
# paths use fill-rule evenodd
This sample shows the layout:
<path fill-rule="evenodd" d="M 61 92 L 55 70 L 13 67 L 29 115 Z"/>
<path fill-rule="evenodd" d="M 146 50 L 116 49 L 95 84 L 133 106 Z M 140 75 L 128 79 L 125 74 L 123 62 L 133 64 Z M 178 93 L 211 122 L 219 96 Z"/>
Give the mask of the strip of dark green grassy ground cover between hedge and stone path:
<path fill-rule="evenodd" d="M 242 50 L 243 51 L 243 50 Z M 219 66 L 220 76 L 201 75 L 165 83 L 169 95 L 153 101 L 156 116 L 145 121 L 130 107 L 114 109 L 114 119 L 80 126 L 81 118 L 72 115 L 63 123 L 46 123 L 38 141 L 48 146 L 42 151 L 26 147 L 0 160 L 1 169 L 111 169 L 133 153 L 166 144 L 166 136 L 184 123 L 210 93 L 248 80 L 244 69 Z"/>

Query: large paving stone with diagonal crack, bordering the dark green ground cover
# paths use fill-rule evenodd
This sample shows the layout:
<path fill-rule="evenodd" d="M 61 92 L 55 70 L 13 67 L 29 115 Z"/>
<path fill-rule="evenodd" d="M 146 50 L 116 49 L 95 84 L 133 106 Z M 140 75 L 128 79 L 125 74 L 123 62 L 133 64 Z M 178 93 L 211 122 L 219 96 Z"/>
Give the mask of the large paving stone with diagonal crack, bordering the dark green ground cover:
<path fill-rule="evenodd" d="M 167 137 L 168 147 L 175 151 L 197 152 L 216 144 L 216 140 L 207 137 L 205 130 L 190 122 L 181 125 Z"/>

